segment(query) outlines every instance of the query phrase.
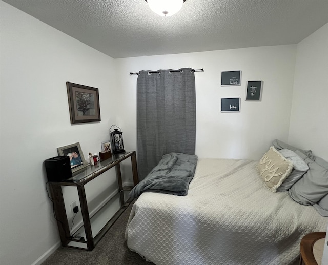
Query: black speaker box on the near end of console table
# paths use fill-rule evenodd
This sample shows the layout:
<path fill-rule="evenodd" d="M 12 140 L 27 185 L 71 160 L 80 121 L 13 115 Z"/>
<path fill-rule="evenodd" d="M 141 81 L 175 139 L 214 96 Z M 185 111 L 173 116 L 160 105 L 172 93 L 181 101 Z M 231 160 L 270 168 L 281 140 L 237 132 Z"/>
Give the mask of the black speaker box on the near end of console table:
<path fill-rule="evenodd" d="M 60 182 L 72 177 L 71 162 L 68 156 L 56 156 L 45 160 L 48 181 Z"/>

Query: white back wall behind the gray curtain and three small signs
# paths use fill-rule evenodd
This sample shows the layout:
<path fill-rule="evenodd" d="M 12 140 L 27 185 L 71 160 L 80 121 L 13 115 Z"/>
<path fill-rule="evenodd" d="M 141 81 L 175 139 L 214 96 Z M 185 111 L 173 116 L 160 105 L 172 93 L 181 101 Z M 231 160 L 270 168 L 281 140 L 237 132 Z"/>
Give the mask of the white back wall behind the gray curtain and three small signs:
<path fill-rule="evenodd" d="M 273 139 L 288 139 L 296 46 L 116 59 L 119 89 L 126 98 L 120 124 L 136 149 L 136 80 L 139 70 L 203 68 L 196 72 L 196 155 L 259 159 Z M 241 70 L 241 86 L 221 87 L 221 71 Z M 262 80 L 261 101 L 245 101 L 247 81 Z M 221 113 L 220 100 L 241 97 L 239 113 Z"/>

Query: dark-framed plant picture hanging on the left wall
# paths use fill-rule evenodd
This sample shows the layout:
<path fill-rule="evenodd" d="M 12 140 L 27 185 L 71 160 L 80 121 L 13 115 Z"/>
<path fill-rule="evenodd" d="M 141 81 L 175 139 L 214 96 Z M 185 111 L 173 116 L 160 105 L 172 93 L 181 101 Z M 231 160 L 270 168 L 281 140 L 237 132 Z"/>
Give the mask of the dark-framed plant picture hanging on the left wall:
<path fill-rule="evenodd" d="M 100 121 L 99 90 L 66 82 L 71 124 Z"/>

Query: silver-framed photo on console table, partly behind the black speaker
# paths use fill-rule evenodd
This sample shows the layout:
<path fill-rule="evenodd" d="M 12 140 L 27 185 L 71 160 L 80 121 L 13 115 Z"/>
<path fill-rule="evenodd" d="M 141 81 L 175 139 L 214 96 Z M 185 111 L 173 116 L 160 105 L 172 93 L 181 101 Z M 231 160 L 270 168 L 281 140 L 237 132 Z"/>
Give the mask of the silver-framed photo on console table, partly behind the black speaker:
<path fill-rule="evenodd" d="M 87 166 L 87 162 L 84 158 L 79 142 L 75 142 L 75 144 L 71 144 L 68 146 L 58 147 L 57 152 L 60 156 L 70 157 L 72 173 Z"/>

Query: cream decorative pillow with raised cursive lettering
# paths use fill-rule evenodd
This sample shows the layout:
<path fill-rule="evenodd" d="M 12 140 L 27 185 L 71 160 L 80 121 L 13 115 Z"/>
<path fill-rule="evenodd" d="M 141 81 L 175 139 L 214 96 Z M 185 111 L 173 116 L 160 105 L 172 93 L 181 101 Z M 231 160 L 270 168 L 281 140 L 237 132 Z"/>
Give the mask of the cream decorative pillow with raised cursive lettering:
<path fill-rule="evenodd" d="M 276 192 L 282 182 L 291 174 L 293 162 L 286 159 L 272 146 L 259 161 L 257 170 L 269 190 Z"/>

